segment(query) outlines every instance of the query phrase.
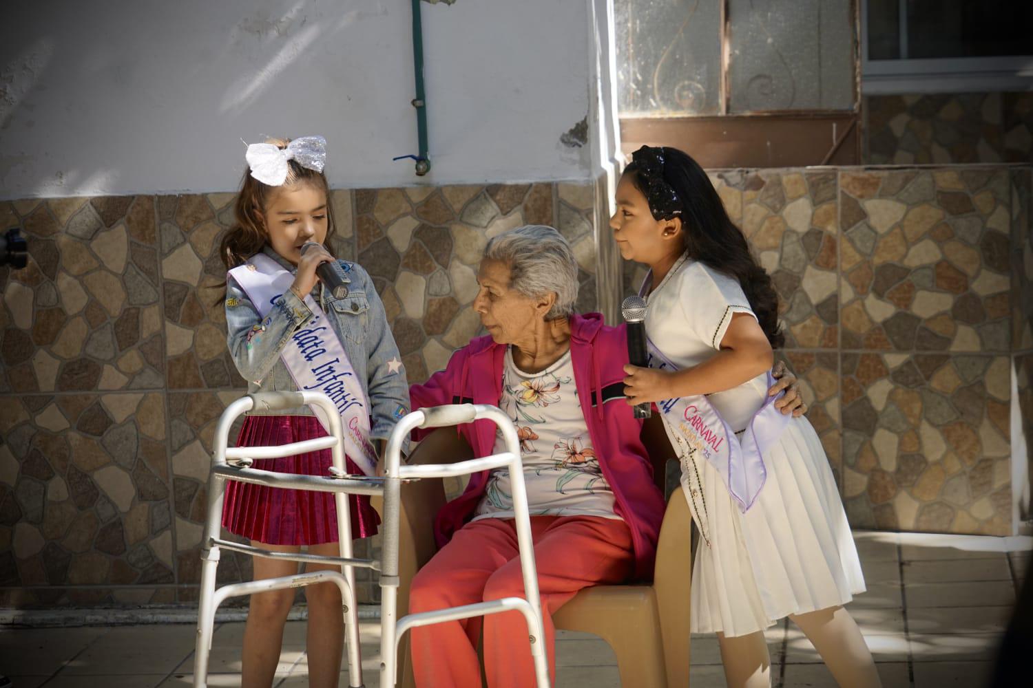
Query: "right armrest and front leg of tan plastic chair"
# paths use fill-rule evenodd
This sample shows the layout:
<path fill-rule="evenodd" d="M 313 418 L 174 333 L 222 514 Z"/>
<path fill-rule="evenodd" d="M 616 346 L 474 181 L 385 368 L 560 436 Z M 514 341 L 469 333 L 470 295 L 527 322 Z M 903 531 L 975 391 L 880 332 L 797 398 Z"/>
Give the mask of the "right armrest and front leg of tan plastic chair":
<path fill-rule="evenodd" d="M 692 516 L 685 492 L 678 487 L 663 515 L 653 578 L 668 686 L 689 685 L 691 582 Z"/>

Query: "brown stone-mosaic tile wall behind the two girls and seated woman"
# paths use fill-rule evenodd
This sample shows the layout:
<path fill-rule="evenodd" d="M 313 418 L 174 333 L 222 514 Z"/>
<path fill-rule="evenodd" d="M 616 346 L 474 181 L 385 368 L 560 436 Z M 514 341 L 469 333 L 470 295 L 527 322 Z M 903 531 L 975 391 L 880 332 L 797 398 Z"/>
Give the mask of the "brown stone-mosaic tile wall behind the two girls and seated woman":
<path fill-rule="evenodd" d="M 1010 531 L 1008 414 L 1033 431 L 1028 168 L 714 171 L 773 274 L 787 348 L 853 525 Z M 339 255 L 373 274 L 409 376 L 479 333 L 488 238 L 557 226 L 596 291 L 593 186 L 336 191 Z M 0 605 L 196 598 L 227 358 L 216 255 L 231 196 L 0 203 L 32 262 L 0 269 Z M 602 231 L 605 231 L 603 228 Z M 1010 368 L 1019 373 L 1011 398 Z M 361 543 L 358 551 L 376 547 Z M 250 561 L 227 553 L 225 581 Z M 359 595 L 376 598 L 369 578 Z"/>

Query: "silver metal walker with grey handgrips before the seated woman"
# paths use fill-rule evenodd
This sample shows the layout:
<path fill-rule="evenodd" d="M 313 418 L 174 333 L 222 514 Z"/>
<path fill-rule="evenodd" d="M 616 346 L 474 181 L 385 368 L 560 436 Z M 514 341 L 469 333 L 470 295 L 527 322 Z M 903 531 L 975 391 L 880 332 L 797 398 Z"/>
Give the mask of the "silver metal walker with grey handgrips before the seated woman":
<path fill-rule="evenodd" d="M 283 445 L 280 447 L 228 447 L 230 426 L 241 415 L 260 408 L 264 413 L 296 408 L 315 404 L 325 411 L 330 419 L 330 434 L 325 437 Z M 493 421 L 501 430 L 506 451 L 479 459 L 451 464 L 402 464 L 402 444 L 416 428 L 433 428 L 475 420 Z M 249 394 L 230 403 L 219 418 L 215 432 L 212 456 L 212 473 L 208 486 L 208 517 L 201 539 L 200 603 L 197 610 L 197 644 L 194 653 L 194 686 L 208 686 L 208 663 L 212 648 L 215 612 L 228 597 L 251 595 L 256 592 L 298 588 L 316 583 L 334 583 L 341 590 L 345 640 L 347 643 L 348 685 L 362 688 L 363 668 L 358 643 L 358 611 L 355 603 L 355 567 L 370 568 L 380 575 L 380 688 L 392 688 L 398 681 L 398 643 L 405 632 L 417 626 L 442 621 L 456 621 L 500 612 L 519 611 L 528 625 L 531 655 L 539 688 L 549 686 L 549 667 L 545 658 L 541 600 L 538 596 L 538 577 L 531 543 L 531 521 L 527 506 L 527 491 L 521 464 L 520 441 L 512 421 L 496 406 L 482 404 L 456 404 L 415 411 L 402 418 L 387 440 L 383 478 L 349 476 L 344 459 L 344 440 L 341 417 L 330 397 L 318 392 L 259 392 Z M 296 476 L 252 468 L 254 459 L 271 459 L 306 452 L 330 449 L 333 465 L 330 476 Z M 229 463 L 227 460 L 233 461 Z M 435 612 L 410 614 L 397 618 L 399 587 L 399 519 L 401 515 L 401 485 L 403 482 L 422 478 L 448 478 L 506 467 L 512 487 L 515 512 L 516 539 L 520 549 L 521 569 L 524 576 L 525 597 L 503 599 L 475 604 L 465 604 Z M 226 483 L 238 481 L 269 487 L 291 488 L 335 493 L 338 516 L 338 542 L 340 556 L 330 557 L 307 553 L 270 552 L 248 545 L 222 539 L 220 535 L 222 504 Z M 351 522 L 347 495 L 380 495 L 383 498 L 382 544 L 378 559 L 356 559 L 351 550 Z M 433 515 L 427 515 L 433 518 Z M 282 578 L 234 583 L 216 589 L 216 568 L 221 550 L 231 550 L 254 557 L 287 561 L 311 561 L 339 564 L 341 571 L 320 570 L 295 574 Z"/>

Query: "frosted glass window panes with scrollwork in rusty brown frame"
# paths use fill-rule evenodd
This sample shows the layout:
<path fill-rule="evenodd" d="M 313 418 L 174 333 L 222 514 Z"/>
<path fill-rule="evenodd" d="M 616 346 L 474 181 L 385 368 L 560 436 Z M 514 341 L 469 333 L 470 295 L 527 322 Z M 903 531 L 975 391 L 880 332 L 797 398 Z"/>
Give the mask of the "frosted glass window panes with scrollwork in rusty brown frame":
<path fill-rule="evenodd" d="M 856 108 L 852 0 L 615 0 L 622 117 Z"/>

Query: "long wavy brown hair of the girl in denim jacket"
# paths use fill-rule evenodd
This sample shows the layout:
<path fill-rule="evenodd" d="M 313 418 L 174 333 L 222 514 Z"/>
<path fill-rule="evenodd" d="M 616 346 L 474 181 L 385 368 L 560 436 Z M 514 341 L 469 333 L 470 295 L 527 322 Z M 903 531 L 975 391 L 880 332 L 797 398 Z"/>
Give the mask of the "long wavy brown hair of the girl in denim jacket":
<path fill-rule="evenodd" d="M 289 138 L 270 138 L 265 141 L 276 145 L 281 151 L 290 143 Z M 222 237 L 219 244 L 219 257 L 226 269 L 237 267 L 247 262 L 248 258 L 261 251 L 269 237 L 262 215 L 270 196 L 278 189 L 294 184 L 309 184 L 326 195 L 326 239 L 323 245 L 334 255 L 333 237 L 337 231 L 334 222 L 334 206 L 330 198 L 330 186 L 322 172 L 302 167 L 295 161 L 287 162 L 287 178 L 279 187 L 271 187 L 251 176 L 251 170 L 244 170 L 241 191 L 237 195 L 233 207 L 234 221 L 232 227 Z"/>

